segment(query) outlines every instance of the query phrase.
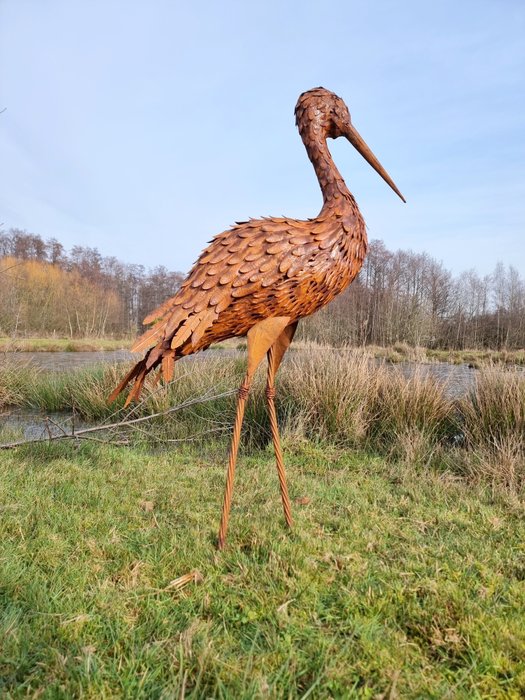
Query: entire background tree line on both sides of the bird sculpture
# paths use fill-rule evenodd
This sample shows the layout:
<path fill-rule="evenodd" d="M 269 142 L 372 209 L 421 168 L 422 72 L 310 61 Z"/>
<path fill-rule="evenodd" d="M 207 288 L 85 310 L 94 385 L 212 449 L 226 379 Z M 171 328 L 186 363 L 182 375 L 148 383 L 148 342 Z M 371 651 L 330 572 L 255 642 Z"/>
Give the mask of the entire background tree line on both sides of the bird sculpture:
<path fill-rule="evenodd" d="M 56 239 L 0 231 L 0 334 L 135 334 L 183 275 L 69 252 Z M 498 263 L 490 275 L 454 277 L 426 254 L 373 241 L 354 283 L 301 324 L 302 337 L 334 345 L 515 349 L 525 346 L 525 281 Z"/>

